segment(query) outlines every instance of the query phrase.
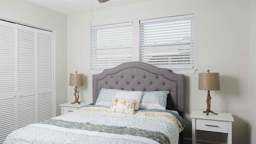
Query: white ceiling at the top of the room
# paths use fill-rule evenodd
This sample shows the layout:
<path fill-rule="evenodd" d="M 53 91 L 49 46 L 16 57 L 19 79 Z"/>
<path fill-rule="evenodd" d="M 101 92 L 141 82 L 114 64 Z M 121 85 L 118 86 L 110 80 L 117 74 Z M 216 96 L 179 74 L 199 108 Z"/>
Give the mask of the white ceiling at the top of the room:
<path fill-rule="evenodd" d="M 91 0 L 28 0 L 40 6 L 44 6 L 62 14 L 78 14 L 90 11 Z M 99 3 L 98 0 L 92 0 L 93 10 L 124 6 L 149 0 L 109 0 L 108 2 Z"/>

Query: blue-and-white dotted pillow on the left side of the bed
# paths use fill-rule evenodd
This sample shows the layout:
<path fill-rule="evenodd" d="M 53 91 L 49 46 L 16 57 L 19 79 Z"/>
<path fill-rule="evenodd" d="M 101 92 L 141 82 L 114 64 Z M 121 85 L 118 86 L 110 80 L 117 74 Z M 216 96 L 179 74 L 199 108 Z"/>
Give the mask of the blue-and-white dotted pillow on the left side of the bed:
<path fill-rule="evenodd" d="M 125 91 L 126 90 L 102 88 L 95 102 L 95 105 L 110 106 L 112 103 L 112 98 L 115 97 L 116 92 L 125 92 Z"/>

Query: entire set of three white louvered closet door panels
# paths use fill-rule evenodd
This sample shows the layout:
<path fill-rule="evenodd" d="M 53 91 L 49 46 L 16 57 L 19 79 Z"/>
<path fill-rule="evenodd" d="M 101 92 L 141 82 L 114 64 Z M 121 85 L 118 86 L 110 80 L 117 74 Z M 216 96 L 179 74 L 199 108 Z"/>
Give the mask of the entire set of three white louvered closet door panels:
<path fill-rule="evenodd" d="M 54 116 L 53 32 L 0 20 L 0 144 Z"/>

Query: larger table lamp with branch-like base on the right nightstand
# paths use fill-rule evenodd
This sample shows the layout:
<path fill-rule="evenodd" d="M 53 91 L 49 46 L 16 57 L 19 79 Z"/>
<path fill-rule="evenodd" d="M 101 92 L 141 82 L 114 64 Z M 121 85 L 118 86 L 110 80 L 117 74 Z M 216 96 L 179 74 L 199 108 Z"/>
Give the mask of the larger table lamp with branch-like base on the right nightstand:
<path fill-rule="evenodd" d="M 207 109 L 203 111 L 208 116 L 209 112 L 212 114 L 217 114 L 210 110 L 211 107 L 211 96 L 210 90 L 220 90 L 220 77 L 219 73 L 210 73 L 210 70 L 207 70 L 207 73 L 199 73 L 198 76 L 198 90 L 207 90 Z"/>

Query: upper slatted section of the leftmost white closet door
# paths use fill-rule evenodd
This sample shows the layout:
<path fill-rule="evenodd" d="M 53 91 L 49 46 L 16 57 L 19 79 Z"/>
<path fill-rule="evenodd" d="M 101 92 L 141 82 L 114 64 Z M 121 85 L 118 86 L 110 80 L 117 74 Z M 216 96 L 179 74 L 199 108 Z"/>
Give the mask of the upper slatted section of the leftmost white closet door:
<path fill-rule="evenodd" d="M 15 26 L 0 21 L 0 100 L 15 95 Z"/>

